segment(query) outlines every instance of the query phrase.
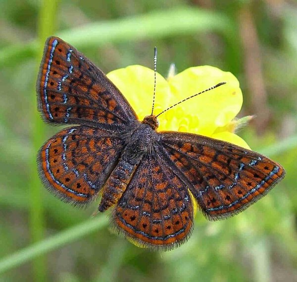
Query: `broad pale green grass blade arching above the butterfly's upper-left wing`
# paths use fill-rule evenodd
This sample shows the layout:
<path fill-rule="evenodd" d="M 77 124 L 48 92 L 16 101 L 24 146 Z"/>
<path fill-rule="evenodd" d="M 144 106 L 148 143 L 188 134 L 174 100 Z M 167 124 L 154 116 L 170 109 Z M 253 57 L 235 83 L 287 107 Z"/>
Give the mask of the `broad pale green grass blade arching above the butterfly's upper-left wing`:
<path fill-rule="evenodd" d="M 157 39 L 210 31 L 234 38 L 234 23 L 218 12 L 201 8 L 179 7 L 134 17 L 90 23 L 57 32 L 54 35 L 60 36 L 80 49 L 82 47 L 98 47 L 111 42 Z M 30 58 L 37 51 L 37 41 L 2 48 L 0 50 L 0 67 L 8 64 L 9 66 L 16 65 L 20 59 Z"/>

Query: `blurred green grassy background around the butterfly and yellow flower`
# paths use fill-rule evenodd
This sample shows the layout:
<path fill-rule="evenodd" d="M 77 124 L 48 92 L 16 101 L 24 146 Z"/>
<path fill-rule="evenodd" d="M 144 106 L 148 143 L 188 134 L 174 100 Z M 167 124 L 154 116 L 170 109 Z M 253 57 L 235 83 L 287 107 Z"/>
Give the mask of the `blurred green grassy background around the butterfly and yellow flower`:
<path fill-rule="evenodd" d="M 240 135 L 286 178 L 227 220 L 198 213 L 170 252 L 108 229 L 96 203 L 77 210 L 37 177 L 38 148 L 59 129 L 36 111 L 43 45 L 60 36 L 104 72 L 211 65 L 241 82 Z M 297 281 L 297 2 L 295 0 L 0 0 L 0 281 Z"/>

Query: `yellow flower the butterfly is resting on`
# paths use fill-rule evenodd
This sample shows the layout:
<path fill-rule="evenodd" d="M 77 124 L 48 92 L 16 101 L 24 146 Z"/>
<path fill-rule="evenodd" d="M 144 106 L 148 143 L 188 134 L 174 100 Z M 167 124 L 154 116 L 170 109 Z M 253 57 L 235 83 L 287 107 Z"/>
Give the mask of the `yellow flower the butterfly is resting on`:
<path fill-rule="evenodd" d="M 153 70 L 129 66 L 113 70 L 107 77 L 120 89 L 140 120 L 150 115 L 154 86 Z M 167 80 L 156 73 L 154 115 L 171 105 L 219 82 L 226 84 L 189 99 L 158 117 L 158 131 L 182 131 L 228 141 L 249 148 L 234 133 L 234 118 L 239 113 L 243 95 L 239 81 L 230 72 L 210 66 L 193 67 Z"/>

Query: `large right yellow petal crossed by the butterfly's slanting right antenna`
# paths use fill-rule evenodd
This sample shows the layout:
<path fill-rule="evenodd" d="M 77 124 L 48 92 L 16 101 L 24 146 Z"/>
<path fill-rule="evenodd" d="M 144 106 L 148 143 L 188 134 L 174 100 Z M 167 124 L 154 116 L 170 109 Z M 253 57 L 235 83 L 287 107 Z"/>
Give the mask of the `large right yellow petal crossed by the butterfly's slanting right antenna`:
<path fill-rule="evenodd" d="M 189 120 L 188 132 L 211 136 L 217 127 L 227 125 L 239 113 L 243 97 L 237 78 L 231 72 L 214 67 L 194 67 L 169 78 L 172 103 L 223 81 L 227 83 L 183 102 L 178 109 L 168 111 L 168 120 L 176 118 L 175 128 L 171 130 L 179 130 L 178 120 L 183 117 Z"/>

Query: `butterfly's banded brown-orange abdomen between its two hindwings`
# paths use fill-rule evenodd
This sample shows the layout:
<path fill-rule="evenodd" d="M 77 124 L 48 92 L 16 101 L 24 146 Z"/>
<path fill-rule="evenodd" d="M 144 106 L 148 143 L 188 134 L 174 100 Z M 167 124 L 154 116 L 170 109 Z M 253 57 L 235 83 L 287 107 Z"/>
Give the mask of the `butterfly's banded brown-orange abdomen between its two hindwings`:
<path fill-rule="evenodd" d="M 118 202 L 126 190 L 136 167 L 137 165 L 132 165 L 123 159 L 118 162 L 103 186 L 99 211 L 106 211 Z"/>

